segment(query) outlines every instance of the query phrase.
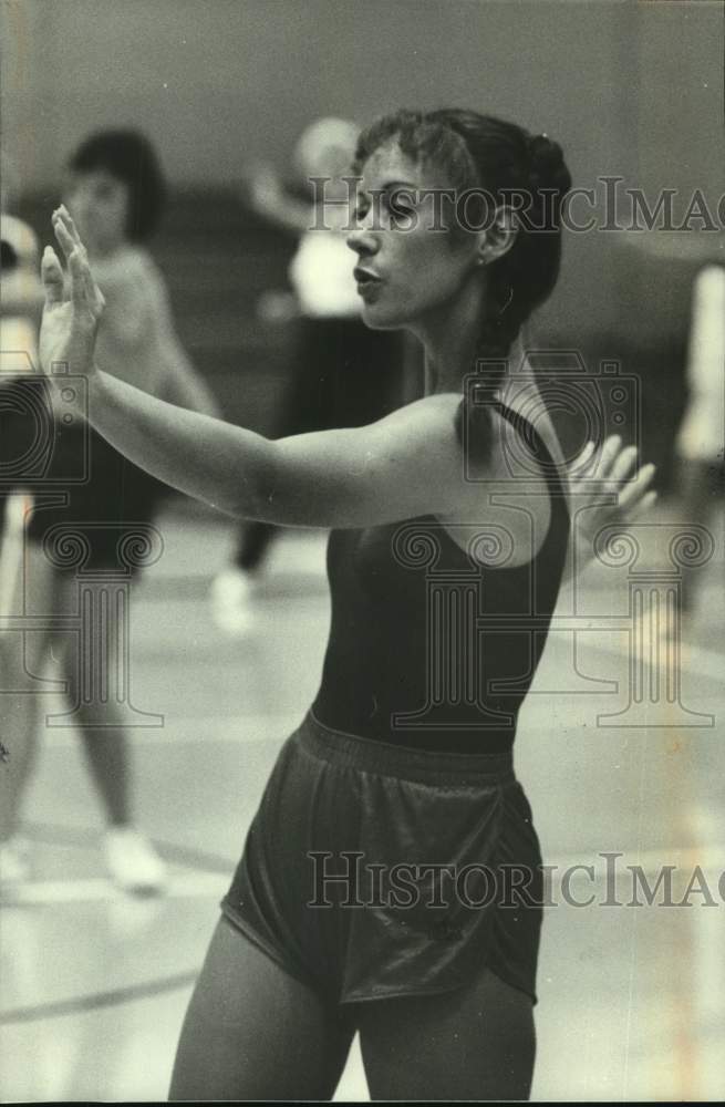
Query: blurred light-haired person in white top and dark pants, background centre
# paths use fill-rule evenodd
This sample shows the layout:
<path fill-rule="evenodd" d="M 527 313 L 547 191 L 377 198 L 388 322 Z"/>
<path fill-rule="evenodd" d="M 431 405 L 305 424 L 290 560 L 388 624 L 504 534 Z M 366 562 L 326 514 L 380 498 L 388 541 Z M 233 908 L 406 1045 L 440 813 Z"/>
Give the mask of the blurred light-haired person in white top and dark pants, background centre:
<path fill-rule="evenodd" d="M 288 190 L 273 169 L 257 168 L 247 201 L 257 213 L 299 236 L 289 268 L 299 320 L 291 352 L 291 380 L 275 413 L 271 437 L 362 426 L 400 405 L 404 341 L 400 333 L 371 331 L 360 319 L 361 301 L 346 246 L 354 188 L 345 180 L 359 127 L 349 120 L 317 120 L 300 136 L 293 155 L 298 187 Z M 317 201 L 317 209 L 315 209 Z M 267 311 L 280 301 L 262 300 Z M 253 598 L 276 527 L 245 524 L 232 563 L 211 587 L 211 609 L 220 629 L 244 635 L 255 627 Z"/>

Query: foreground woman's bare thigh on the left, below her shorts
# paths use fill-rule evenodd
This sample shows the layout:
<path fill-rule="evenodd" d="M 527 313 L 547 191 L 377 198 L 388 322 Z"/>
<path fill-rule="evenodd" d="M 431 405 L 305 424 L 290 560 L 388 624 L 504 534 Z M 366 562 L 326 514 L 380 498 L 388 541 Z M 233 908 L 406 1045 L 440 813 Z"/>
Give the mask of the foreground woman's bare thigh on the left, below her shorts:
<path fill-rule="evenodd" d="M 172 1100 L 330 1099 L 353 1031 L 222 915 L 186 1013 Z"/>

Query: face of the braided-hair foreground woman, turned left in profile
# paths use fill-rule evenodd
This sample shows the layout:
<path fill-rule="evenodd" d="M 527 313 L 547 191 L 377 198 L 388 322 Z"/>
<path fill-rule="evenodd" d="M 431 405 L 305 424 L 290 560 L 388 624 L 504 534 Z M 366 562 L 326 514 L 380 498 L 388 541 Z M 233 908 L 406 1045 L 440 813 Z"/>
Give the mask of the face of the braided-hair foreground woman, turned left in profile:
<path fill-rule="evenodd" d="M 379 147 L 361 176 L 358 229 L 348 245 L 358 255 L 362 318 L 375 329 L 415 329 L 449 304 L 472 279 L 478 257 L 476 236 L 446 229 L 453 207 L 444 203 L 441 190 L 447 182 L 412 162 L 397 143 Z"/>

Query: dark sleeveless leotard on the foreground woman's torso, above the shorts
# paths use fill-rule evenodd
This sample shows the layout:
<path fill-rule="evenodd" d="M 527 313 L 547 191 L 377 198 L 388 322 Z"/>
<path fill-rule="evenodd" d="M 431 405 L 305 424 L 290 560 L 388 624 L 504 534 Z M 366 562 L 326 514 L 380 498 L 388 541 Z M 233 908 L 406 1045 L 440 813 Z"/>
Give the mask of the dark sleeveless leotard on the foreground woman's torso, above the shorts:
<path fill-rule="evenodd" d="M 532 459 L 536 475 L 546 476 L 551 515 L 543 542 L 530 561 L 507 567 L 512 545 L 500 525 L 466 528 L 478 558 L 433 516 L 334 530 L 332 622 L 312 708 L 325 726 L 417 749 L 510 749 L 559 592 L 569 511 L 540 434 L 496 406 L 529 473 Z M 515 489 L 504 498 L 515 504 Z"/>

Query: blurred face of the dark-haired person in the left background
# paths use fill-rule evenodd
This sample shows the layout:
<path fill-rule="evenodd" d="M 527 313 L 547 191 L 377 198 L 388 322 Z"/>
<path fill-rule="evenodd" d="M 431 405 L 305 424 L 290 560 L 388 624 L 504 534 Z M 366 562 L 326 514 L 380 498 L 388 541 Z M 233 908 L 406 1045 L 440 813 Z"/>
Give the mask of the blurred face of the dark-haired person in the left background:
<path fill-rule="evenodd" d="M 75 173 L 65 203 L 90 254 L 110 254 L 126 241 L 128 186 L 106 169 Z"/>

